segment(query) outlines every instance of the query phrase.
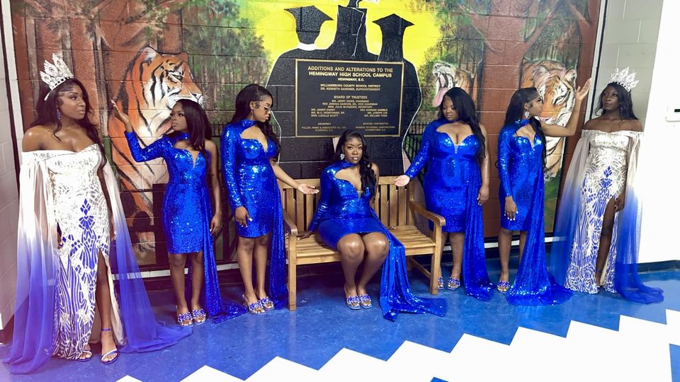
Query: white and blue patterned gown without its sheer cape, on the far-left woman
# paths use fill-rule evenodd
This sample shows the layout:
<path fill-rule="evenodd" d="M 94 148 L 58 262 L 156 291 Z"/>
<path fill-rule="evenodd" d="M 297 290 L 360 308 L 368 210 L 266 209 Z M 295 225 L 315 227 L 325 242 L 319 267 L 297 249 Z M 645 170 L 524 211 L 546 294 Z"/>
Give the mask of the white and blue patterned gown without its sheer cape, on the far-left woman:
<path fill-rule="evenodd" d="M 89 342 L 94 325 L 99 253 L 109 270 L 114 334 L 119 339 L 123 334 L 108 266 L 111 243 L 108 205 L 97 176 L 103 158 L 96 144 L 79 152 L 46 150 L 26 153 L 24 160 L 26 156 L 45 159 L 52 185 L 51 210 L 61 232 L 61 246 L 57 249 L 53 354 L 76 359 Z"/>

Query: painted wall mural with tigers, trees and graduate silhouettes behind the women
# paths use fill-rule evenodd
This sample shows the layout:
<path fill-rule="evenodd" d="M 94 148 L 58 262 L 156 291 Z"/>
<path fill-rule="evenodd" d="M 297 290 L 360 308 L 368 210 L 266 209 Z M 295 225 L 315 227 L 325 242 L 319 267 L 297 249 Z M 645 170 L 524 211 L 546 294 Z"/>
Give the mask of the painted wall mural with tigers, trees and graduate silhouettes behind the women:
<path fill-rule="evenodd" d="M 60 54 L 85 83 L 120 175 L 123 202 L 142 265 L 166 262 L 159 201 L 162 161 L 135 163 L 113 99 L 149 143 L 168 129 L 171 106 L 202 103 L 215 139 L 237 92 L 261 83 L 275 98 L 280 163 L 293 178 L 314 178 L 333 149 L 330 138 L 295 137 L 295 59 L 396 62 L 404 67 L 399 136 L 372 137 L 381 173 L 403 171 L 402 143 L 436 115 L 443 93 L 464 88 L 489 131 L 492 163 L 511 93 L 536 86 L 542 117 L 565 124 L 577 78 L 591 72 L 599 1 L 586 0 L 12 0 L 24 128 L 33 119 L 45 58 Z M 305 89 L 297 89 L 304 96 Z M 568 146 L 568 145 L 567 145 Z M 553 221 L 563 139 L 550 141 L 546 230 Z M 497 173 L 492 196 L 497 195 Z M 495 236 L 497 199 L 485 206 L 485 234 Z M 230 260 L 233 231 L 218 243 Z M 223 245 L 222 245 L 223 241 Z"/>

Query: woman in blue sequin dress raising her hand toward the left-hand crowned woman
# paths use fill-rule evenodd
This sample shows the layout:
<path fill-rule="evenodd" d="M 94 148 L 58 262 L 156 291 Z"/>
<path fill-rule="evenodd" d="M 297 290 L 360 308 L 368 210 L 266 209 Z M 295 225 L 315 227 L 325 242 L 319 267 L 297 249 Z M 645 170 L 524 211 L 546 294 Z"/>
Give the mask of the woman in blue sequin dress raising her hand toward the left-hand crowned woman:
<path fill-rule="evenodd" d="M 171 112 L 171 134 L 145 148 L 128 116 L 114 104 L 114 112 L 125 124 L 125 138 L 135 161 L 164 158 L 169 180 L 163 198 L 163 231 L 170 258 L 170 277 L 177 300 L 177 321 L 182 326 L 205 322 L 206 313 L 215 322 L 239 316 L 244 310 L 224 303 L 217 280 L 212 235 L 222 226 L 220 186 L 217 178 L 217 145 L 210 141 L 210 122 L 205 111 L 191 100 L 179 100 Z M 210 175 L 210 190 L 208 190 Z M 214 200 L 214 209 L 211 202 Z M 186 293 L 184 267 L 191 257 Z M 191 295 L 191 311 L 186 303 Z M 204 310 L 205 308 L 205 310 Z"/>

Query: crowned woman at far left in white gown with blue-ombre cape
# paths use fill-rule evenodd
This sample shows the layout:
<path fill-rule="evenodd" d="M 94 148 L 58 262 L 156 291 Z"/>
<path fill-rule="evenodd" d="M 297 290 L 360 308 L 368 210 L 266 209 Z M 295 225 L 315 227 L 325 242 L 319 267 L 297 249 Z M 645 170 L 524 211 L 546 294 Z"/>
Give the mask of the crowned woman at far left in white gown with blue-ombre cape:
<path fill-rule="evenodd" d="M 17 374 L 53 355 L 87 361 L 91 340 L 101 340 L 108 364 L 118 351 L 162 349 L 191 333 L 157 323 L 87 93 L 53 59 L 41 72 L 50 88 L 23 137 L 14 333 L 5 360 Z"/>

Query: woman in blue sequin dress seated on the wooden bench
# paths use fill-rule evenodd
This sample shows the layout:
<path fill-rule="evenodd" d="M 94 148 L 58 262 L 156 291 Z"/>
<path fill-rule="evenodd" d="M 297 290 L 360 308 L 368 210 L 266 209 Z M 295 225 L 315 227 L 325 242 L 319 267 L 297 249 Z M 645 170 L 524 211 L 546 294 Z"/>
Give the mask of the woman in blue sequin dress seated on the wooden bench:
<path fill-rule="evenodd" d="M 359 132 L 346 130 L 341 135 L 335 162 L 321 174 L 321 199 L 310 231 L 302 238 L 318 230 L 324 243 L 340 252 L 350 309 L 373 306 L 366 284 L 385 262 L 380 282 L 382 316 L 395 320 L 399 311 L 444 316 L 446 301 L 419 299 L 412 294 L 404 246 L 387 231 L 371 208 L 379 170 L 375 163 L 370 163 L 365 150 L 365 140 Z M 356 282 L 356 271 L 363 260 L 363 272 Z"/>

